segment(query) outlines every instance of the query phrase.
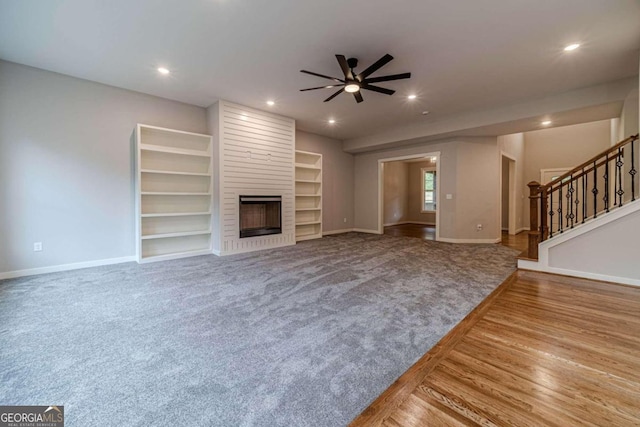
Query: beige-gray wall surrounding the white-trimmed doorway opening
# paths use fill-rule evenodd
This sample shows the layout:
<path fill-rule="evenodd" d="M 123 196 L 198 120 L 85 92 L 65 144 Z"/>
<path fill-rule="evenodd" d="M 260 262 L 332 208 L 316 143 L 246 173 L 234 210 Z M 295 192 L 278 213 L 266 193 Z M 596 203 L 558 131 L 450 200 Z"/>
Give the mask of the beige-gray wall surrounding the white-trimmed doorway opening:
<path fill-rule="evenodd" d="M 378 161 L 440 152 L 440 224 L 442 239 L 500 238 L 499 153 L 497 139 L 459 137 L 395 150 L 357 154 L 355 228 L 378 232 Z M 451 194 L 452 199 L 445 199 Z M 482 224 L 481 231 L 476 224 Z"/>

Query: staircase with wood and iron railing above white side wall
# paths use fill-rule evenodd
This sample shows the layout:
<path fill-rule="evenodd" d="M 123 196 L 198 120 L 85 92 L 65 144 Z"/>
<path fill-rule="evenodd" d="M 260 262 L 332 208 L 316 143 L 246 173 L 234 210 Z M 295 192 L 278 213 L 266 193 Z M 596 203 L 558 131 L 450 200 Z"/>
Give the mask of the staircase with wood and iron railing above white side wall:
<path fill-rule="evenodd" d="M 518 267 L 640 285 L 638 135 L 553 181 L 530 182 L 530 231 Z"/>

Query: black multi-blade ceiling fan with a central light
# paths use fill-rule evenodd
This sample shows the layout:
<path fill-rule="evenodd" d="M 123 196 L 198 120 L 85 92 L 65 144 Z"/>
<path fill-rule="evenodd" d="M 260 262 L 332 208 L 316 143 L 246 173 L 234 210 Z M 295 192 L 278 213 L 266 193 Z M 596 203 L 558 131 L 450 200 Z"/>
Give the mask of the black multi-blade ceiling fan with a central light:
<path fill-rule="evenodd" d="M 331 85 L 300 89 L 300 92 L 304 92 L 307 90 L 330 89 L 333 87 L 340 87 L 340 90 L 338 90 L 336 93 L 331 95 L 329 98 L 325 99 L 324 102 L 331 101 L 333 98 L 340 95 L 342 92 L 348 92 L 348 93 L 352 93 L 356 101 L 360 103 L 364 101 L 362 99 L 362 94 L 360 93 L 360 89 L 372 90 L 374 92 L 384 93 L 385 95 L 393 95 L 396 92 L 395 90 L 374 86 L 371 83 L 388 82 L 391 80 L 408 79 L 409 77 L 411 77 L 411 73 L 402 73 L 402 74 L 392 74 L 389 76 L 368 78 L 371 74 L 378 71 L 380 68 L 385 66 L 387 63 L 389 63 L 389 61 L 393 59 L 393 56 L 389 55 L 388 53 L 382 58 L 378 59 L 376 62 L 370 65 L 369 68 L 367 68 L 360 74 L 356 74 L 353 71 L 353 69 L 358 66 L 358 60 L 356 58 L 346 59 L 344 55 L 336 55 L 336 59 L 338 60 L 338 64 L 340 64 L 340 68 L 344 73 L 344 79 L 329 77 L 323 74 L 314 73 L 312 71 L 300 70 L 301 73 L 311 74 L 312 76 L 322 77 L 324 79 L 333 80 L 335 82 L 334 84 L 331 84 Z"/>

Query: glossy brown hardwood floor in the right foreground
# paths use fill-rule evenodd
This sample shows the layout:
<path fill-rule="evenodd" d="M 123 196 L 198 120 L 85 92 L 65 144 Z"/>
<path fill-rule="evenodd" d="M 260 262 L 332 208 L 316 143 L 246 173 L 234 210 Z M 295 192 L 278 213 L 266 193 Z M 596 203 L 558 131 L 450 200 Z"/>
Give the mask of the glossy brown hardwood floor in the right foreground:
<path fill-rule="evenodd" d="M 515 272 L 351 426 L 640 425 L 640 288 Z"/>

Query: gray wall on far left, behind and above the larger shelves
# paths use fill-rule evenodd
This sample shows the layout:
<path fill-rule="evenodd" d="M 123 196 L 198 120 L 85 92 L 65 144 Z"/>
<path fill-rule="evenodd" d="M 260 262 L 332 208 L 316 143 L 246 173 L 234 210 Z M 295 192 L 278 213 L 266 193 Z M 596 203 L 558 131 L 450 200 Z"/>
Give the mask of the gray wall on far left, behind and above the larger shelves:
<path fill-rule="evenodd" d="M 133 256 L 135 124 L 207 129 L 203 108 L 5 61 L 0 94 L 0 272 Z"/>

